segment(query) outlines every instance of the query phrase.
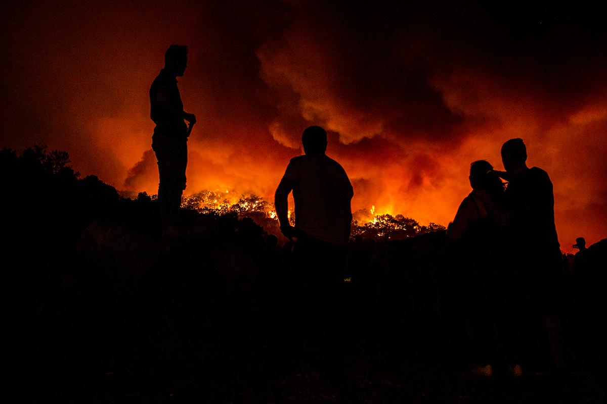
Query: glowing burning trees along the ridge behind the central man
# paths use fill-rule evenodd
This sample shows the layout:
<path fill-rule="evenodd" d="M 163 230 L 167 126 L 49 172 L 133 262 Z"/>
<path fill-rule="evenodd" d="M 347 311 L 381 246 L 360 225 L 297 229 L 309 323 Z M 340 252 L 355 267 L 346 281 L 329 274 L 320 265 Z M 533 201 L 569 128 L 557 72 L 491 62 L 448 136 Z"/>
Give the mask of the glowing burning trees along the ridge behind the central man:
<path fill-rule="evenodd" d="M 254 193 L 237 194 L 234 191 L 224 193 L 222 191 L 204 190 L 184 196 L 181 207 L 203 214 L 237 213 L 239 216 L 247 216 L 251 213 L 262 213 L 267 219 L 277 220 L 272 202 L 268 202 L 268 200 Z M 294 214 L 292 213 L 290 214 L 290 220 L 291 222 L 294 221 Z M 396 216 L 390 214 L 376 215 L 375 207 L 372 207 L 371 211 L 362 209 L 354 213 L 351 237 L 378 241 L 402 240 L 437 230 L 444 230 L 444 227 L 434 223 L 422 226 L 416 220 L 404 217 L 402 214 Z"/>

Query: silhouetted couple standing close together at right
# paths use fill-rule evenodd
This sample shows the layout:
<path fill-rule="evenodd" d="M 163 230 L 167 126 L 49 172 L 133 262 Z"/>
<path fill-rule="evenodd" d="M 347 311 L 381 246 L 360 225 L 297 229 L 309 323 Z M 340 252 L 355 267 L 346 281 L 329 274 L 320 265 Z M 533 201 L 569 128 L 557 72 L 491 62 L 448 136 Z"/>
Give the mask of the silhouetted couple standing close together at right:
<path fill-rule="evenodd" d="M 522 139 L 504 143 L 501 157 L 506 171 L 472 163 L 473 191 L 447 229 L 459 245 L 458 295 L 473 373 L 491 376 L 496 365 L 514 376 L 561 369 L 552 182 L 546 171 L 527 167 Z"/>

